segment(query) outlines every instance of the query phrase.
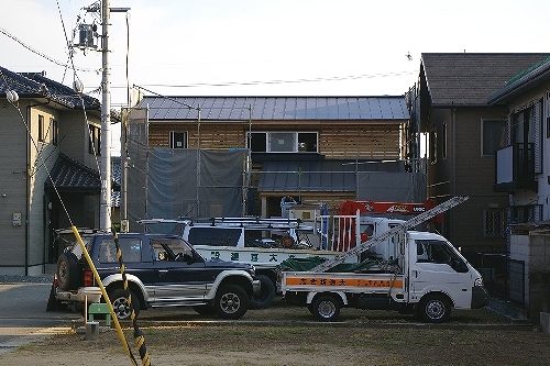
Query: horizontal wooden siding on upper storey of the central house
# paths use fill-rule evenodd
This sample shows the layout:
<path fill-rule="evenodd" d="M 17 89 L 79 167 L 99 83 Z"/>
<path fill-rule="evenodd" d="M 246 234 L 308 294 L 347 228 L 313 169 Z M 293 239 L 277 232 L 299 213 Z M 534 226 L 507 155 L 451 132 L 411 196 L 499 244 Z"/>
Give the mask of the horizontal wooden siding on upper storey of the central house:
<path fill-rule="evenodd" d="M 327 158 L 399 158 L 400 127 L 398 123 L 348 124 L 334 122 L 255 123 L 252 131 L 311 131 L 319 135 L 319 154 Z M 200 133 L 201 148 L 235 148 L 246 146 L 248 123 L 202 122 L 197 123 L 152 122 L 150 123 L 150 145 L 169 146 L 169 132 L 187 132 L 188 147 L 196 148 Z"/>

